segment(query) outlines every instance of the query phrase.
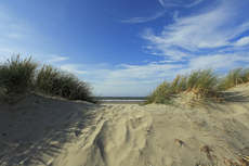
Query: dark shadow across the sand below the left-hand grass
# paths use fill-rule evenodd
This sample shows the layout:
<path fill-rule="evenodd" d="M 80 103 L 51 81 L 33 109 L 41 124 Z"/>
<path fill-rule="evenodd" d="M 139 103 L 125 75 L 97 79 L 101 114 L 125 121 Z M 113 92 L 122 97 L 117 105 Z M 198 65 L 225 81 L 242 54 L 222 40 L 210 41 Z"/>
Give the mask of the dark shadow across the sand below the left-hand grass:
<path fill-rule="evenodd" d="M 0 104 L 0 165 L 50 165 L 87 126 L 101 106 L 27 94 Z"/>

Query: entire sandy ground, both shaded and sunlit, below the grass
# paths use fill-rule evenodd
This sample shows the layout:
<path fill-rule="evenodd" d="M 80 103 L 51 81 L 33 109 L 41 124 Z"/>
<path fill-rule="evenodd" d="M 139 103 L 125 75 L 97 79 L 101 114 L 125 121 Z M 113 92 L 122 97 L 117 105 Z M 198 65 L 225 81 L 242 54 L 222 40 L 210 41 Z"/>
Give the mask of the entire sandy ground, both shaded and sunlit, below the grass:
<path fill-rule="evenodd" d="M 0 165 L 249 165 L 249 85 L 226 103 L 91 104 L 27 93 L 0 105 Z"/>

